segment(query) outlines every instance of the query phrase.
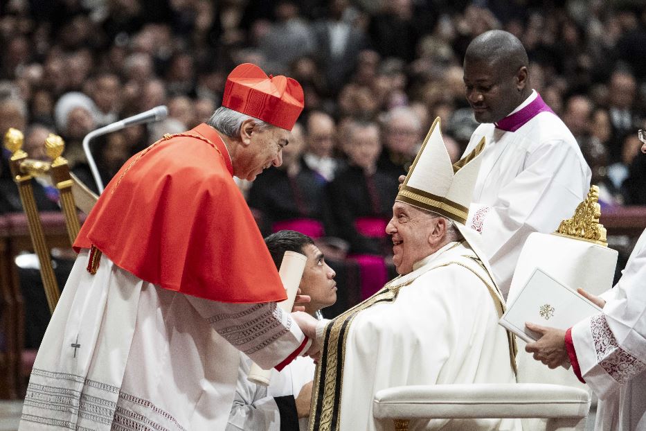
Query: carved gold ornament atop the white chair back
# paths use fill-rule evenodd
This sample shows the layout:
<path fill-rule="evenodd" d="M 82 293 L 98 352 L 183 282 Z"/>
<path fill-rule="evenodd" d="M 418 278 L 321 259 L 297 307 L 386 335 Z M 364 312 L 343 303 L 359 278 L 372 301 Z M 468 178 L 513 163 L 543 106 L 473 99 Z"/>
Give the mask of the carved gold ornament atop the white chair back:
<path fill-rule="evenodd" d="M 561 222 L 555 234 L 590 241 L 607 247 L 606 228 L 599 222 L 601 205 L 598 200 L 599 188 L 590 186 L 586 200 L 577 206 L 572 218 Z"/>

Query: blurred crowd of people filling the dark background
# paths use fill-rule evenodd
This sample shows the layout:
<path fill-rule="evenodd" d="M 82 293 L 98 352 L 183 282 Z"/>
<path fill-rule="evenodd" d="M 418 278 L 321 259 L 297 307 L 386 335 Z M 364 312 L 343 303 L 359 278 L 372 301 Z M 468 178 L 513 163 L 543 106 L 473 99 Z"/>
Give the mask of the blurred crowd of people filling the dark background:
<path fill-rule="evenodd" d="M 477 123 L 462 60 L 485 30 L 526 46 L 530 76 L 580 143 L 602 206 L 646 204 L 646 7 L 640 0 L 5 0 L 0 131 L 49 132 L 96 189 L 81 148 L 91 130 L 157 105 L 160 123 L 93 143 L 107 183 L 134 152 L 206 121 L 236 64 L 296 78 L 305 111 L 283 166 L 241 184 L 264 234 L 294 228 L 339 256 L 385 256 L 384 227 L 440 117 L 459 159 Z M 20 211 L 3 153 L 0 211 Z M 55 209 L 46 182 L 39 206 Z M 369 262 L 368 262 L 369 263 Z"/>

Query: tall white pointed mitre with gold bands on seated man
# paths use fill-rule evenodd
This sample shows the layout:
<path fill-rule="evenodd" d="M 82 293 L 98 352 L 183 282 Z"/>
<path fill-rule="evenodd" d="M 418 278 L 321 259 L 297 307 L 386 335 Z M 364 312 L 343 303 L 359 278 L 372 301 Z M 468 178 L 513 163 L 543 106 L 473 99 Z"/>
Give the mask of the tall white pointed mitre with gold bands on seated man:
<path fill-rule="evenodd" d="M 485 148 L 483 138 L 472 152 L 451 164 L 436 118 L 395 200 L 444 215 L 465 225 Z"/>

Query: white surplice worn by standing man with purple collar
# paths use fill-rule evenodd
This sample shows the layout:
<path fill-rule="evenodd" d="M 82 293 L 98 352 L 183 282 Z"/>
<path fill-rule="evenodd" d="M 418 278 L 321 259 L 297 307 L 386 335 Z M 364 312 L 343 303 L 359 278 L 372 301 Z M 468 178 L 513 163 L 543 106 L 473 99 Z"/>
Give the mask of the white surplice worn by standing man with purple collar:
<path fill-rule="evenodd" d="M 532 91 L 512 114 L 541 100 L 537 97 Z M 551 112 L 536 114 L 515 132 L 481 124 L 465 155 L 483 137 L 486 146 L 466 224 L 481 232 L 482 251 L 506 298 L 529 234 L 549 234 L 571 217 L 588 193 L 591 171 L 571 132 Z"/>

